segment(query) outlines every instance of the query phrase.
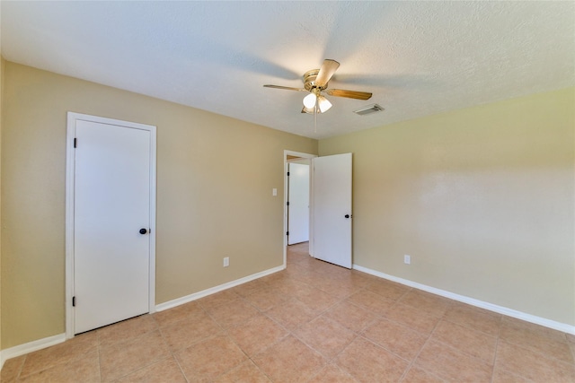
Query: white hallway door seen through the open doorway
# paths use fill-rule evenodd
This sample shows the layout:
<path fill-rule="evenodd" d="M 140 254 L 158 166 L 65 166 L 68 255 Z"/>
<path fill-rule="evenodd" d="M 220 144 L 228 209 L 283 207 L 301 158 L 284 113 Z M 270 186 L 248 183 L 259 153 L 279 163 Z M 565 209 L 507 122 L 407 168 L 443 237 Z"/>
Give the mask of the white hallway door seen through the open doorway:
<path fill-rule="evenodd" d="M 309 164 L 288 166 L 288 245 L 293 245 L 309 240 Z"/>

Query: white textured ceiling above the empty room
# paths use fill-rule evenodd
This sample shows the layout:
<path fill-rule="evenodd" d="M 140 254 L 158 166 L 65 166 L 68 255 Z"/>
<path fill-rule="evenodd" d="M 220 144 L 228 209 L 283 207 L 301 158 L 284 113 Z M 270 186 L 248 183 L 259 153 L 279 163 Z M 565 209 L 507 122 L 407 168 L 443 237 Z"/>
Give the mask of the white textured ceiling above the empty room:
<path fill-rule="evenodd" d="M 10 2 L 2 55 L 323 138 L 575 85 L 575 2 Z M 341 63 L 317 118 L 301 76 Z M 385 111 L 353 110 L 377 103 Z"/>

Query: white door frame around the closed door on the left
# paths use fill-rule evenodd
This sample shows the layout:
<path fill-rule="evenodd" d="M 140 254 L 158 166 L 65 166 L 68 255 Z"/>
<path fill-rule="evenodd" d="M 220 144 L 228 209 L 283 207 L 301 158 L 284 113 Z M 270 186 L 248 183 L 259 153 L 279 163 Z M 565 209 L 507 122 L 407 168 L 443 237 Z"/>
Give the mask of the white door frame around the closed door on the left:
<path fill-rule="evenodd" d="M 102 118 L 75 112 L 67 112 L 66 130 L 66 339 L 75 336 L 74 297 L 74 235 L 75 235 L 75 126 L 77 120 L 100 124 L 126 126 L 150 132 L 150 254 L 148 281 L 148 312 L 155 312 L 155 164 L 156 127 L 113 118 Z"/>

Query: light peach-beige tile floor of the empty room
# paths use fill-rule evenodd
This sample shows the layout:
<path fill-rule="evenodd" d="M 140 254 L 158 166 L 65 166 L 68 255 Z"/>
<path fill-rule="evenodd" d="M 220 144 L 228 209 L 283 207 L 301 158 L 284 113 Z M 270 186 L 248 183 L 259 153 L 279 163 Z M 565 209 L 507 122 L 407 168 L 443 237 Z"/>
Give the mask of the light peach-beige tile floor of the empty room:
<path fill-rule="evenodd" d="M 575 336 L 314 260 L 5 362 L 2 382 L 575 382 Z"/>

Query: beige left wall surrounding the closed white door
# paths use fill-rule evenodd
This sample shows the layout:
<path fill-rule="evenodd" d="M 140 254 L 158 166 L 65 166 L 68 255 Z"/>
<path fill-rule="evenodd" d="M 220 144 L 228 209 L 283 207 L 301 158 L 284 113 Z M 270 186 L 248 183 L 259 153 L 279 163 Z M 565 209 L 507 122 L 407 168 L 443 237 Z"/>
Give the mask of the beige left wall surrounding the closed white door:
<path fill-rule="evenodd" d="M 283 151 L 315 140 L 4 65 L 4 349 L 65 331 L 66 111 L 157 126 L 157 303 L 282 265 Z"/>

